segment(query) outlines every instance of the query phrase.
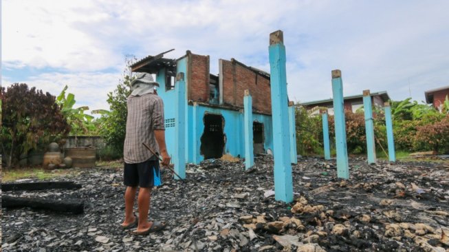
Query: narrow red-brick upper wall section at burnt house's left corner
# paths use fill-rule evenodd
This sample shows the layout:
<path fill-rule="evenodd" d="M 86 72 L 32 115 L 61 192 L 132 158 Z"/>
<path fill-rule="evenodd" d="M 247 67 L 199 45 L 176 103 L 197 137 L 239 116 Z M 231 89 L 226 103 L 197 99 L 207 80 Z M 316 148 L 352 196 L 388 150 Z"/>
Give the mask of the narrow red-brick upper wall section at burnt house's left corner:
<path fill-rule="evenodd" d="M 188 100 L 209 101 L 209 56 L 188 54 Z"/>

